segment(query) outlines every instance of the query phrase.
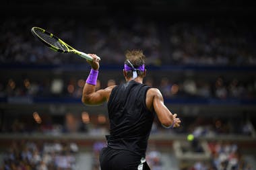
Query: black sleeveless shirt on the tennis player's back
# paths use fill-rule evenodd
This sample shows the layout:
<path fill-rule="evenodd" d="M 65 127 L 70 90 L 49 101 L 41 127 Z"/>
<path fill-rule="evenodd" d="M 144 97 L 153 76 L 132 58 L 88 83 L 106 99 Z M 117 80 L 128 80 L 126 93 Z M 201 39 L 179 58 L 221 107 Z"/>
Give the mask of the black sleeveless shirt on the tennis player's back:
<path fill-rule="evenodd" d="M 108 99 L 110 148 L 125 149 L 145 157 L 155 114 L 146 107 L 149 86 L 129 81 L 113 88 Z"/>

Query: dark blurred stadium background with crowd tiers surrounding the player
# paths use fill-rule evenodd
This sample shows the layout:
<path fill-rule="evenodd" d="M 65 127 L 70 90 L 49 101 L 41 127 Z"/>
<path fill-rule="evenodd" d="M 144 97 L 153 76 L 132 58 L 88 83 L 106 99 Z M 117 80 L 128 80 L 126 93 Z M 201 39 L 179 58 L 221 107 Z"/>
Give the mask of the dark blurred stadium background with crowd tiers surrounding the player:
<path fill-rule="evenodd" d="M 181 128 L 154 120 L 152 170 L 256 169 L 255 3 L 249 1 L 7 1 L 1 3 L 0 169 L 96 170 L 106 103 L 83 105 L 90 67 L 32 36 L 38 26 L 101 57 L 97 89 L 123 83 L 125 50 Z"/>

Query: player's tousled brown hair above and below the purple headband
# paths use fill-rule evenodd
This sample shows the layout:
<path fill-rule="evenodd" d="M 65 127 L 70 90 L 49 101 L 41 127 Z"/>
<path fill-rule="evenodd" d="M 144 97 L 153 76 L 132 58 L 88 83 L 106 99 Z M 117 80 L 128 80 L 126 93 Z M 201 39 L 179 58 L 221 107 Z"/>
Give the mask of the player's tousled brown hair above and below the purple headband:
<path fill-rule="evenodd" d="M 127 62 L 127 60 L 131 62 L 131 64 L 135 69 L 145 64 L 146 57 L 143 54 L 142 50 L 127 50 L 125 52 L 125 57 L 126 57 L 125 64 L 128 65 L 129 67 L 131 66 L 129 62 Z M 137 71 L 137 75 L 139 77 L 142 77 L 143 71 Z M 127 71 L 127 77 L 133 77 L 133 71 Z"/>

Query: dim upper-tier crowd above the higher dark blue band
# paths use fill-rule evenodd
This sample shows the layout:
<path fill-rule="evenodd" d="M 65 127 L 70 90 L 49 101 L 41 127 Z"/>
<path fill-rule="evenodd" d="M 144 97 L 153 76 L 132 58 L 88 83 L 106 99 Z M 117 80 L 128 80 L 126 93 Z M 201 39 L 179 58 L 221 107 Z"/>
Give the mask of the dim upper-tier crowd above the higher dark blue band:
<path fill-rule="evenodd" d="M 236 20 L 164 22 L 143 17 L 123 22 L 104 16 L 88 24 L 63 18 L 9 17 L 0 28 L 1 63 L 79 63 L 74 54 L 58 54 L 32 37 L 33 26 L 53 32 L 67 44 L 96 53 L 102 63 L 123 63 L 125 50 L 139 48 L 148 65 L 256 65 L 255 32 L 249 23 Z M 20 28 L 20 29 L 16 29 Z"/>

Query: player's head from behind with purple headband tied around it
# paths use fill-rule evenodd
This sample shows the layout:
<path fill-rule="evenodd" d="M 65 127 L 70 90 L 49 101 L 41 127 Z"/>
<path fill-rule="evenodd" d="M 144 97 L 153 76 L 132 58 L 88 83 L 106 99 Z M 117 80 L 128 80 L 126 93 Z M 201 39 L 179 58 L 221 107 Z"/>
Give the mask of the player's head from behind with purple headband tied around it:
<path fill-rule="evenodd" d="M 125 57 L 125 68 L 123 69 L 125 78 L 145 77 L 145 56 L 143 52 L 141 50 L 127 50 Z"/>

